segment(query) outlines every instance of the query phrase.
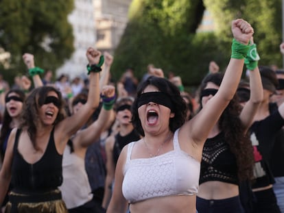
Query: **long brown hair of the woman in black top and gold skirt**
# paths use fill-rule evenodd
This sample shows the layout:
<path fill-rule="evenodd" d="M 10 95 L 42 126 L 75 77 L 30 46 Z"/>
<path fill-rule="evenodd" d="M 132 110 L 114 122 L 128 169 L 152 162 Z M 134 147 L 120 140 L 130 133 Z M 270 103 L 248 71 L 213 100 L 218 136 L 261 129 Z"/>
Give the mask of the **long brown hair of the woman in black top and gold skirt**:
<path fill-rule="evenodd" d="M 52 86 L 42 86 L 32 90 L 31 94 L 29 94 L 27 99 L 25 99 L 25 103 L 23 105 L 20 127 L 27 128 L 27 133 L 29 134 L 29 138 L 31 138 L 32 144 L 34 145 L 35 149 L 36 125 L 39 117 L 38 110 L 40 106 L 45 103 L 45 99 L 49 92 L 56 92 L 58 99 L 61 101 L 56 121 L 54 121 L 54 125 L 62 121 L 66 116 L 66 112 L 64 111 L 64 105 L 66 103 L 62 99 L 61 92 L 59 92 L 56 88 Z"/>

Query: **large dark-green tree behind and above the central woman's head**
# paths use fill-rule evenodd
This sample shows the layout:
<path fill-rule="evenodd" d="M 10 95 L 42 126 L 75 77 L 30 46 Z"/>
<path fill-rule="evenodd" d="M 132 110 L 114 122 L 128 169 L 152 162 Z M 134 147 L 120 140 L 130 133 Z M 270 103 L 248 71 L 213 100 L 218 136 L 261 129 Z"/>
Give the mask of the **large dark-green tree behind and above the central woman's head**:
<path fill-rule="evenodd" d="M 180 53 L 190 58 L 191 34 L 202 19 L 202 1 L 133 1 L 130 22 L 115 51 L 113 77 L 119 79 L 127 66 L 141 78 L 147 64 L 161 67 L 165 73 L 180 67 Z M 180 49 L 177 48 L 180 47 Z"/>

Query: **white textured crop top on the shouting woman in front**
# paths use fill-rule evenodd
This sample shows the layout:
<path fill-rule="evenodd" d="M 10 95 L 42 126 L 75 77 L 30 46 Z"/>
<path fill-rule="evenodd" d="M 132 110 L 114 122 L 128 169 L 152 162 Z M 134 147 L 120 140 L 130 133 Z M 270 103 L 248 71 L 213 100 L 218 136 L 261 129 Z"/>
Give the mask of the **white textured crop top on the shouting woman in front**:
<path fill-rule="evenodd" d="M 122 192 L 130 203 L 198 193 L 200 162 L 180 149 L 178 130 L 174 133 L 174 150 L 154 158 L 131 160 L 135 142 L 128 145 Z"/>

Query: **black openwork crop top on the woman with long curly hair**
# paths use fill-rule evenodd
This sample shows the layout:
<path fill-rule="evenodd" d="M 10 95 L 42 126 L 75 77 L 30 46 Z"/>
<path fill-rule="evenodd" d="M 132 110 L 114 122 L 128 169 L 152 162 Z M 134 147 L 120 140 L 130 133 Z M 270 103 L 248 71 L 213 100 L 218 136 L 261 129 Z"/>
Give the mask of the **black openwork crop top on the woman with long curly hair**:
<path fill-rule="evenodd" d="M 207 138 L 202 151 L 200 184 L 222 181 L 238 185 L 237 171 L 237 160 L 224 140 L 224 133 Z"/>

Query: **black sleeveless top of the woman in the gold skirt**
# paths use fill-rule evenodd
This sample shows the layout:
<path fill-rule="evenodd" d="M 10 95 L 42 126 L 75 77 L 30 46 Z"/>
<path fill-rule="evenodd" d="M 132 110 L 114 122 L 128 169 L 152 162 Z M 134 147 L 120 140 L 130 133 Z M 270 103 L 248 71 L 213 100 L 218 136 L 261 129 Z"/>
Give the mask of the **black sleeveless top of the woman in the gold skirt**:
<path fill-rule="evenodd" d="M 43 157 L 34 164 L 27 163 L 18 151 L 21 129 L 16 131 L 12 162 L 12 186 L 15 191 L 38 192 L 53 190 L 62 184 L 62 155 L 54 143 L 54 129 L 49 136 Z"/>

